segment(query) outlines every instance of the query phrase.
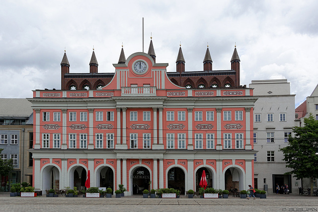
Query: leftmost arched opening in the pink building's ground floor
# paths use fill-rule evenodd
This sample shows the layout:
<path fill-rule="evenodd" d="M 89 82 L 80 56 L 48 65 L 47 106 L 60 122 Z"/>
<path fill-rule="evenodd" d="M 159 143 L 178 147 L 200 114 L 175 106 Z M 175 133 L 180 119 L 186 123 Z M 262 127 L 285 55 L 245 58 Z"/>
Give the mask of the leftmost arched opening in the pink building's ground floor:
<path fill-rule="evenodd" d="M 60 171 L 53 165 L 46 166 L 42 171 L 42 189 L 60 189 Z"/>

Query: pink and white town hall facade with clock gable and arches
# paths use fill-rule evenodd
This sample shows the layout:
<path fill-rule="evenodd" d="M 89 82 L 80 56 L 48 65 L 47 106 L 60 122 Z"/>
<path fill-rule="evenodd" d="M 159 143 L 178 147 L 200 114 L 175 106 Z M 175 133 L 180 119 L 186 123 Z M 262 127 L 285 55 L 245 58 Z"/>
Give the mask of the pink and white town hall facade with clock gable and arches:
<path fill-rule="evenodd" d="M 198 190 L 253 184 L 253 105 L 246 87 L 186 89 L 168 64 L 134 53 L 97 90 L 35 90 L 33 185 Z"/>

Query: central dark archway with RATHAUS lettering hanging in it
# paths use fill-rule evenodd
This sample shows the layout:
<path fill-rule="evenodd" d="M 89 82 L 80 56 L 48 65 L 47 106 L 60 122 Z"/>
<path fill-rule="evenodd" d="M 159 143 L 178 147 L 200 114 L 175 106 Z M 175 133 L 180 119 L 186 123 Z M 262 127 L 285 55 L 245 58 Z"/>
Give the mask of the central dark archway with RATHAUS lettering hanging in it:
<path fill-rule="evenodd" d="M 150 190 L 151 174 L 148 168 L 139 166 L 132 170 L 131 175 L 131 187 L 132 194 L 143 194 L 145 189 Z"/>

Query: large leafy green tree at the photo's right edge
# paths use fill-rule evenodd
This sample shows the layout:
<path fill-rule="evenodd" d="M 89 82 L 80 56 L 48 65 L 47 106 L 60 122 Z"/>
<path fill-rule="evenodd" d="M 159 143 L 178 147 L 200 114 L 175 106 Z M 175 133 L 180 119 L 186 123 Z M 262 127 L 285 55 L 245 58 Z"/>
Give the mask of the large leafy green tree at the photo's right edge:
<path fill-rule="evenodd" d="M 289 145 L 281 148 L 286 167 L 292 170 L 285 174 L 294 174 L 297 179 L 310 178 L 311 196 L 314 177 L 318 176 L 318 120 L 312 115 L 304 119 L 304 127 L 293 128 L 294 137 L 289 137 Z"/>

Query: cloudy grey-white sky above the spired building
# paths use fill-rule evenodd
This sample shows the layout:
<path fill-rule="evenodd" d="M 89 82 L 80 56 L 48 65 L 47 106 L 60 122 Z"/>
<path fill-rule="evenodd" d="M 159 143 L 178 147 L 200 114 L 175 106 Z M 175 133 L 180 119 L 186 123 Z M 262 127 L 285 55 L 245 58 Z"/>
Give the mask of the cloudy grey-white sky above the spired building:
<path fill-rule="evenodd" d="M 287 78 L 298 106 L 318 83 L 317 0 L 1 0 L 0 98 L 32 97 L 61 88 L 64 49 L 70 72 L 114 72 L 122 43 L 126 58 L 148 52 L 175 71 L 179 44 L 185 71 L 202 71 L 209 43 L 213 70 L 231 69 L 235 43 L 241 84 Z"/>

